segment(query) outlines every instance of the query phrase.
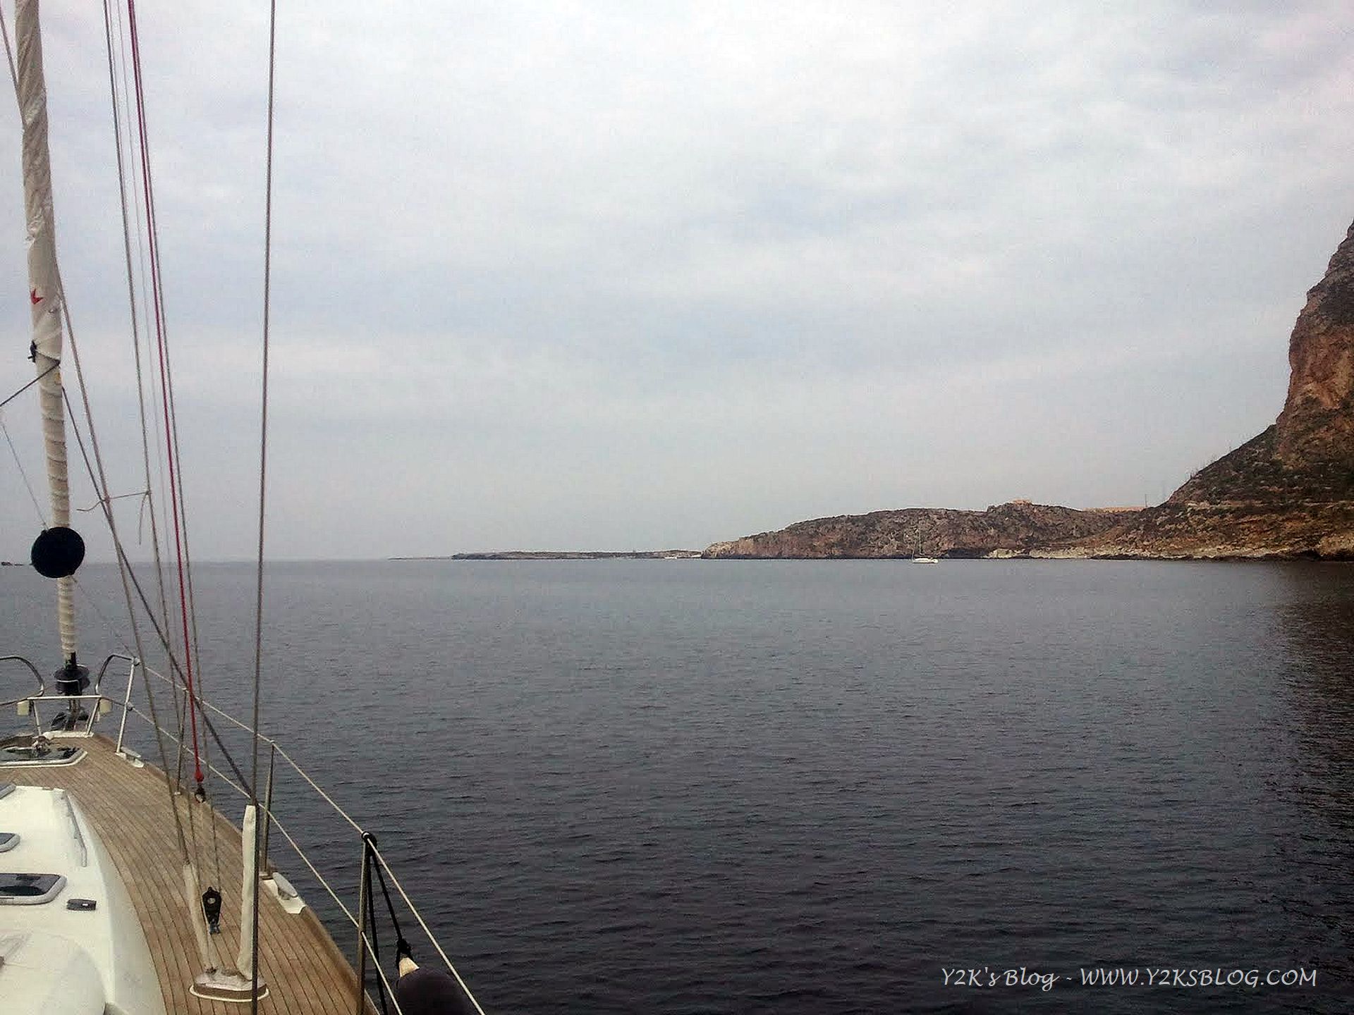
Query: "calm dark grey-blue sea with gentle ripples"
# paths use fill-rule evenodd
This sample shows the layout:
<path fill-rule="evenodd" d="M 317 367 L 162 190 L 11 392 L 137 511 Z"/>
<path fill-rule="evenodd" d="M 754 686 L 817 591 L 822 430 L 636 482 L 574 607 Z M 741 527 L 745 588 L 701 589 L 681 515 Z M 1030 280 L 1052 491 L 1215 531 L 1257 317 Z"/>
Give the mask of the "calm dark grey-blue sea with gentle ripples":
<path fill-rule="evenodd" d="M 244 715 L 252 567 L 196 582 Z M 102 656 L 121 593 L 81 585 Z M 5 652 L 54 663 L 49 597 L 0 570 Z M 1354 1010 L 1354 567 L 278 564 L 267 602 L 265 729 L 487 1011 Z"/>

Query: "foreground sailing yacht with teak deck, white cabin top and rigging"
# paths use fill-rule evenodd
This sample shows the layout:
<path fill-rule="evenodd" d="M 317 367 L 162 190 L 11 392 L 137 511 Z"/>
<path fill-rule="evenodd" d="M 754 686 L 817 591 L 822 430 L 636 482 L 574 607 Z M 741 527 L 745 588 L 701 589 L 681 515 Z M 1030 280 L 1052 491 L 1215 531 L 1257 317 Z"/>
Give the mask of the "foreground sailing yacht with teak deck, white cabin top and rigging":
<path fill-rule="evenodd" d="M 77 384 L 81 428 L 81 414 L 72 406 L 74 391 L 66 387 L 62 376 L 68 353 L 77 375 L 80 371 L 57 261 L 38 0 L 18 0 L 14 45 L 8 26 L 4 26 L 4 41 L 23 122 L 27 298 L 32 315 L 28 355 L 35 378 L 16 395 L 26 387 L 37 387 L 49 513 L 34 541 L 31 560 L 41 575 L 56 583 L 61 658 L 45 678 L 47 667 L 23 655 L 0 656 L 7 670 L 31 681 L 27 693 L 0 702 L 16 708 L 27 728 L 27 732 L 0 740 L 0 1010 L 5 1015 L 112 1011 L 161 1015 L 165 1011 L 226 1011 L 229 1008 L 222 1004 L 248 1004 L 250 1011 L 362 1012 L 376 1003 L 387 1010 L 389 999 L 395 1011 L 414 1015 L 431 1011 L 427 1006 L 433 1001 L 428 999 L 435 999 L 443 1006 L 439 1011 L 481 1011 L 386 863 L 375 836 L 338 808 L 291 755 L 259 732 L 257 696 L 253 721 L 240 723 L 211 705 L 202 694 L 200 681 L 194 679 L 196 625 L 190 623 L 191 567 L 185 552 L 181 480 L 175 478 L 177 434 L 160 314 L 154 203 L 134 0 L 126 3 L 125 20 L 122 12 L 118 14 L 119 26 L 125 26 L 119 30 L 127 32 L 133 54 L 134 96 L 118 93 L 110 14 L 111 7 L 106 5 L 114 108 L 119 108 L 119 100 L 126 103 L 129 112 L 123 122 L 134 120 L 139 135 L 144 204 L 137 218 L 145 223 L 144 240 L 150 254 L 153 314 L 148 317 L 153 315 L 156 325 L 164 455 L 171 476 L 168 514 L 176 548 L 172 572 L 179 579 L 180 618 L 176 620 L 181 623 L 172 624 L 169 609 L 154 606 L 157 597 L 148 591 L 123 551 L 84 378 L 79 376 Z M 269 93 L 271 87 L 269 76 Z M 271 106 L 269 96 L 269 146 Z M 122 154 L 119 125 L 119 168 Z M 271 169 L 268 192 L 271 207 Z M 126 212 L 123 221 L 127 222 Z M 130 242 L 127 250 L 129 291 L 133 291 Z M 135 322 L 134 296 L 131 302 Z M 135 355 L 139 367 L 139 348 Z M 73 604 L 73 577 L 84 559 L 84 541 L 70 528 L 66 444 L 70 426 L 79 438 L 79 460 L 99 491 L 99 508 L 116 552 L 130 620 L 131 644 L 107 655 L 92 678 L 91 670 L 80 662 Z M 145 498 L 149 502 L 149 461 L 146 471 Z M 260 514 L 261 498 L 260 479 Z M 154 517 L 152 510 L 153 525 Z M 167 570 L 158 558 L 158 541 L 153 567 L 158 585 Z M 162 590 L 158 598 L 164 604 Z M 260 624 L 261 602 L 260 526 Z M 162 651 L 168 663 L 165 673 L 146 663 L 152 647 L 156 652 Z M 256 654 L 256 673 L 259 659 Z M 122 677 L 125 681 L 119 682 Z M 115 682 L 119 682 L 116 687 Z M 167 692 L 169 701 L 165 701 Z M 145 709 L 139 708 L 142 698 Z M 129 719 L 148 724 L 158 767 L 130 748 Z M 219 732 L 223 727 L 237 727 L 249 738 L 252 765 L 245 766 L 232 757 Z M 267 757 L 265 778 L 261 754 Z M 292 832 L 278 820 L 272 798 L 278 765 L 290 767 L 351 828 L 353 849 L 360 849 L 362 855 L 355 905 L 344 901 Z M 191 767 L 191 784 L 185 767 Z M 248 777 L 245 767 L 250 771 Z M 215 807 L 217 793 L 227 789 L 246 798 L 238 830 Z M 268 840 L 274 831 L 295 850 L 298 861 L 351 923 L 355 935 L 352 962 L 287 878 L 272 866 Z M 380 889 L 385 914 L 376 903 L 375 886 Z M 424 957 L 422 969 L 413 958 L 414 947 L 401 932 L 401 916 L 410 922 L 406 926 L 417 924 L 427 939 L 429 955 Z M 379 949 L 382 922 L 398 942 L 395 964 L 389 969 L 382 964 Z M 429 957 L 440 961 L 429 962 Z M 386 960 L 389 964 L 389 950 Z"/>

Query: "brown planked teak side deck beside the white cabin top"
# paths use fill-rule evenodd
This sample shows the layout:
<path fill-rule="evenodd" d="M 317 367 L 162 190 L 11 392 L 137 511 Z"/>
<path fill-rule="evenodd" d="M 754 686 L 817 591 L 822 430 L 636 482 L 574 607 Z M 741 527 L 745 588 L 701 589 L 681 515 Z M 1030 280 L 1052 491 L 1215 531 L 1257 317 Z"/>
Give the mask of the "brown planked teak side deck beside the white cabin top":
<path fill-rule="evenodd" d="M 119 758 L 112 742 L 103 736 L 62 743 L 79 744 L 88 754 L 66 766 L 4 767 L 0 781 L 66 789 L 80 803 L 137 907 L 160 974 L 167 1012 L 248 1012 L 248 1004 L 203 1000 L 188 992 L 200 969 L 183 897 L 183 865 L 164 773 L 150 763 L 135 767 Z M 222 895 L 221 934 L 213 939 L 223 965 L 233 966 L 240 947 L 240 831 L 207 804 L 198 804 L 190 796 L 175 800 L 185 836 L 188 811 L 192 811 L 199 876 L 204 885 L 210 881 Z M 223 884 L 215 884 L 209 820 L 217 823 Z M 269 989 L 259 1011 L 320 1015 L 356 1010 L 357 977 L 320 920 L 309 907 L 298 915 L 286 912 L 267 890 L 259 893 L 259 969 Z"/>

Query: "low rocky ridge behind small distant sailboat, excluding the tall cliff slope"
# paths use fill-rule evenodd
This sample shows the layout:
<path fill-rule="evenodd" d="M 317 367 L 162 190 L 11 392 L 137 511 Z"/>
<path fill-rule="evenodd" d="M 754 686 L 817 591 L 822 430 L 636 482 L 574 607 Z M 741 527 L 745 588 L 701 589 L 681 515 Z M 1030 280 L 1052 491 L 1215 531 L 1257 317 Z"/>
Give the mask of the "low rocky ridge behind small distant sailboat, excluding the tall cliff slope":
<path fill-rule="evenodd" d="M 1133 510 L 1078 512 L 1013 501 L 986 512 L 909 508 L 802 521 L 709 547 L 707 558 L 1024 556 L 1066 547 L 1131 520 Z"/>

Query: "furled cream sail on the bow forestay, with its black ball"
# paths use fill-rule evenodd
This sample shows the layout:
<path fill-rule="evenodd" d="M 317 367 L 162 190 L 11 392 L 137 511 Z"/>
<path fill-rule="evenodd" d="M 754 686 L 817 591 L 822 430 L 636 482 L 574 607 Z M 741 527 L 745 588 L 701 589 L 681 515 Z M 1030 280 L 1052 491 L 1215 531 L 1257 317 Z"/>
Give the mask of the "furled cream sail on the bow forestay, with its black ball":
<path fill-rule="evenodd" d="M 34 544 L 34 566 L 57 579 L 57 625 L 62 671 L 77 679 L 76 613 L 70 575 L 84 556 L 84 544 L 70 529 L 70 489 L 66 479 L 66 413 L 61 388 L 61 346 L 65 302 L 57 271 L 56 221 L 51 211 L 51 158 L 47 152 L 47 87 L 42 73 L 38 0 L 15 4 L 19 50 L 19 111 L 23 116 L 23 207 L 28 226 L 28 304 L 32 342 L 28 356 L 38 372 L 42 443 L 47 459 L 51 503 L 49 528 Z M 45 568 L 39 564 L 39 545 Z M 58 574 L 49 574 L 49 570 Z M 60 574 L 60 572 L 65 574 Z M 74 692 L 74 693 L 79 693 Z"/>

